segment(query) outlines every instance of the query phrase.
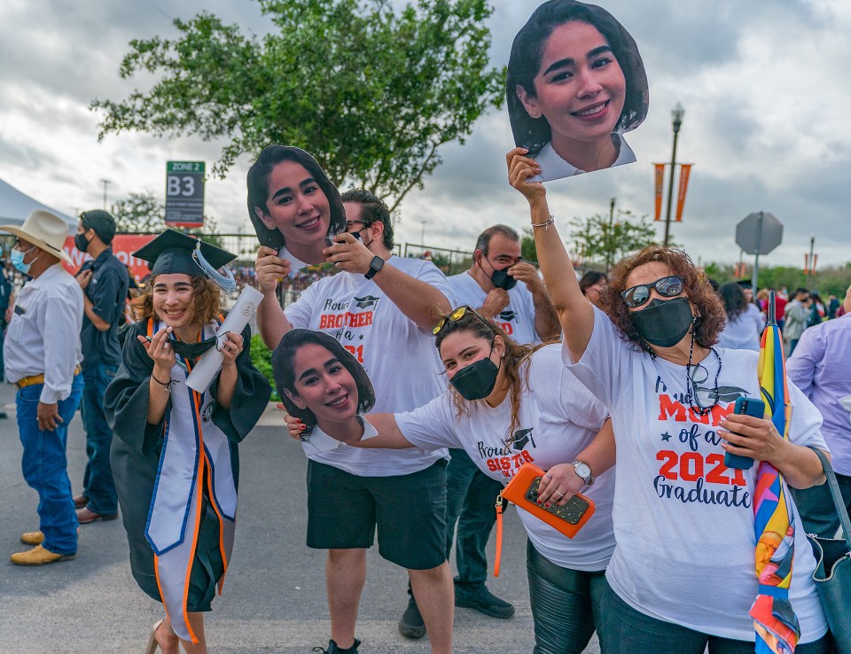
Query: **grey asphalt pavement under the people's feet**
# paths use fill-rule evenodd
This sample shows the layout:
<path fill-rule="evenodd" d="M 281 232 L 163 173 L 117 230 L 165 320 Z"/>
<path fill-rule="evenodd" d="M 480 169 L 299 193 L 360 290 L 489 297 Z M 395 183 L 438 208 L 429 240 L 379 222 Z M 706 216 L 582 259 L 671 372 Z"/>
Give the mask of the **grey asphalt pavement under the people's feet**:
<path fill-rule="evenodd" d="M 0 418 L 0 654 L 141 654 L 152 624 L 164 613 L 130 574 L 121 519 L 81 526 L 73 561 L 27 568 L 8 560 L 13 552 L 27 549 L 20 534 L 38 528 L 38 496 L 20 473 L 14 393 L 14 386 L 0 384 L 0 409 L 8 414 Z M 240 447 L 236 543 L 223 596 L 215 599 L 205 622 L 209 650 L 215 654 L 301 654 L 328 644 L 324 552 L 304 544 L 306 459 L 280 424 L 277 411 L 270 409 Z M 79 412 L 70 426 L 67 452 L 76 494 L 85 466 Z M 493 552 L 491 540 L 491 560 Z M 513 603 L 517 612 L 501 620 L 456 609 L 457 654 L 532 651 L 525 559 L 526 535 L 509 510 L 502 571 L 498 579 L 488 580 L 488 588 Z M 427 638 L 410 641 L 399 634 L 406 583 L 402 569 L 370 550 L 356 634 L 363 641 L 362 654 L 431 651 Z M 596 638 L 586 652 L 599 652 Z"/>

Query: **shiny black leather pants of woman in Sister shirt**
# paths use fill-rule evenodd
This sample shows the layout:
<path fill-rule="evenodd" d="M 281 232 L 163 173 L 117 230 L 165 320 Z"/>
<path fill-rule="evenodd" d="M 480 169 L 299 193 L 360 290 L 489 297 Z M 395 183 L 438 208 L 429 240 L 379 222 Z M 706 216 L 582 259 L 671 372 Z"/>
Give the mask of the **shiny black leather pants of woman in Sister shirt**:
<path fill-rule="evenodd" d="M 608 588 L 605 571 L 563 568 L 543 557 L 532 541 L 526 546 L 526 571 L 535 622 L 533 654 L 580 654 L 595 627 L 602 631 L 600 604 Z"/>

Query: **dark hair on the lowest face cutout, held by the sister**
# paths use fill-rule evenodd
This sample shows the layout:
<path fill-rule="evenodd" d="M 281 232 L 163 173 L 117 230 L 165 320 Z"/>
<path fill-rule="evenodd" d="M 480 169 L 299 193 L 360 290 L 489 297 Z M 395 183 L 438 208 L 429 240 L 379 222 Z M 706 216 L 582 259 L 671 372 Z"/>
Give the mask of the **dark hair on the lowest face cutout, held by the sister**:
<path fill-rule="evenodd" d="M 333 338 L 324 331 L 313 331 L 304 329 L 292 329 L 284 334 L 284 338 L 277 344 L 272 352 L 272 376 L 275 378 L 275 388 L 284 403 L 286 412 L 291 416 L 299 418 L 305 425 L 302 437 L 307 437 L 316 426 L 316 415 L 310 409 L 299 409 L 295 402 L 290 400 L 285 391 L 296 393 L 295 390 L 295 355 L 302 346 L 308 344 L 323 346 L 337 360 L 343 364 L 349 374 L 355 379 L 357 386 L 357 412 L 366 413 L 375 406 L 375 391 L 372 382 L 363 370 L 363 366 L 357 362 L 355 355 L 340 345 L 340 341 Z M 296 393 L 297 394 L 297 393 Z"/>

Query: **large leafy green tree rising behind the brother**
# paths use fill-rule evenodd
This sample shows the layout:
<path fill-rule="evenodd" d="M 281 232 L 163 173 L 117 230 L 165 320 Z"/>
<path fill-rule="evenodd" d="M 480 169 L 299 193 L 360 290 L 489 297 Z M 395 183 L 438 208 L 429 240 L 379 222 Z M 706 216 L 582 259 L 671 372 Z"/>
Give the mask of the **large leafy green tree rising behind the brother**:
<path fill-rule="evenodd" d="M 98 99 L 99 137 L 126 130 L 226 138 L 213 167 L 268 144 L 312 153 L 332 182 L 388 200 L 441 163 L 504 97 L 504 69 L 488 69 L 488 0 L 258 0 L 277 33 L 243 35 L 203 12 L 176 19 L 176 39 L 130 42 L 120 74 L 160 74 L 148 92 Z"/>

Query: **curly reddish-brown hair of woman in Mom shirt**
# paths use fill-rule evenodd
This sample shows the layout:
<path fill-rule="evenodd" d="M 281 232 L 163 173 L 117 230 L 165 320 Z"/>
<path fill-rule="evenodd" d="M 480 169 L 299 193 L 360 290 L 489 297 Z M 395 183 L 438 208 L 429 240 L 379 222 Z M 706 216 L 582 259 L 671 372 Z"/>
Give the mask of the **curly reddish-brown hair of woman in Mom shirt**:
<path fill-rule="evenodd" d="M 718 334 L 727 323 L 721 299 L 707 282 L 707 277 L 699 272 L 688 254 L 682 250 L 660 245 L 648 245 L 641 252 L 621 259 L 609 275 L 609 285 L 603 294 L 605 313 L 621 332 L 621 337 L 635 344 L 636 349 L 653 353 L 652 346 L 638 335 L 632 323 L 632 315 L 623 301 L 621 292 L 627 290 L 627 278 L 633 270 L 646 263 L 659 261 L 668 266 L 671 275 L 683 280 L 683 290 L 695 308 L 697 321 L 694 340 L 701 347 L 711 347 L 718 342 Z"/>

